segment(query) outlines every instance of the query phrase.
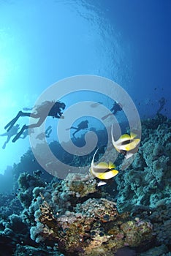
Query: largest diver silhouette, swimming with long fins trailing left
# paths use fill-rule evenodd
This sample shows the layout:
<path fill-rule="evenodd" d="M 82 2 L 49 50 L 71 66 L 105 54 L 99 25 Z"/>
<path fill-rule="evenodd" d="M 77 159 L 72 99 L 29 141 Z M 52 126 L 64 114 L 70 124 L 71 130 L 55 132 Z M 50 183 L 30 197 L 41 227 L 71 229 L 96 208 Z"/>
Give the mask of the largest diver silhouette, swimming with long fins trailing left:
<path fill-rule="evenodd" d="M 55 102 L 54 100 L 42 102 L 41 105 L 34 106 L 33 112 L 31 113 L 19 111 L 17 116 L 15 116 L 15 118 L 13 118 L 12 121 L 9 121 L 9 123 L 4 127 L 4 129 L 8 128 L 7 132 L 9 132 L 9 130 L 12 129 L 12 127 L 14 126 L 15 122 L 18 121 L 18 118 L 20 118 L 20 116 L 39 118 L 39 121 L 35 124 L 24 124 L 22 129 L 20 129 L 20 132 L 18 132 L 18 134 L 12 140 L 12 142 L 15 142 L 16 140 L 18 140 L 18 138 L 20 138 L 20 135 L 22 135 L 26 129 L 40 127 L 41 124 L 45 121 L 45 118 L 47 118 L 47 116 L 52 116 L 53 118 L 64 118 L 64 116 L 62 116 L 63 113 L 61 112 L 61 109 L 64 110 L 65 107 L 66 105 L 64 104 L 64 102 Z M 47 110 L 49 110 L 48 114 Z"/>

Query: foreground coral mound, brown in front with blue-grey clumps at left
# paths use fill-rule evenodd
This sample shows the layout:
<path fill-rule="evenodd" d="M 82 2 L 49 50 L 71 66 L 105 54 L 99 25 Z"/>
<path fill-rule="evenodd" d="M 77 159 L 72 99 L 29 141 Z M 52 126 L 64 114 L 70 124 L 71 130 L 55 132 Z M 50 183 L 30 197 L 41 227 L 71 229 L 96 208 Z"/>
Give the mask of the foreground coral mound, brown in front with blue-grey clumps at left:
<path fill-rule="evenodd" d="M 1 231 L 4 236 L 15 236 L 20 241 L 14 255 L 23 254 L 26 242 L 29 242 L 26 251 L 37 255 L 45 255 L 48 246 L 49 255 L 56 252 L 56 255 L 95 256 L 111 255 L 123 246 L 140 246 L 143 241 L 151 241 L 151 222 L 129 217 L 127 212 L 118 214 L 116 203 L 99 197 L 101 192 L 96 192 L 96 182 L 90 180 L 88 184 L 88 176 L 69 177 L 43 184 L 38 176 L 20 175 L 18 199 L 24 209 L 20 215 L 10 215 Z M 35 187 L 37 184 L 41 187 Z M 83 194 L 77 197 L 79 191 Z M 23 200 L 22 193 L 31 193 L 31 198 Z M 95 194 L 98 196 L 91 198 Z M 32 243 L 37 244 L 34 249 Z M 38 249 L 39 244 L 42 249 Z"/>

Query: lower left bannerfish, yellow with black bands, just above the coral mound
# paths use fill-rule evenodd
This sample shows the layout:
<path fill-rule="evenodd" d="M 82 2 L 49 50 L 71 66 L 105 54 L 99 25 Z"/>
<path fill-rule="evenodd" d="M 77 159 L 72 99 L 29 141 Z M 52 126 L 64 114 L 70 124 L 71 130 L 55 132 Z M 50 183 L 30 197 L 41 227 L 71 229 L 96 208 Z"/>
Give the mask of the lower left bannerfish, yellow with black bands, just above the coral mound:
<path fill-rule="evenodd" d="M 98 149 L 96 150 L 96 152 Z M 94 157 L 96 155 L 96 152 L 94 153 Z M 115 165 L 113 165 L 113 162 L 99 162 L 98 165 L 94 165 L 94 157 L 91 161 L 91 168 L 90 173 L 101 180 L 108 180 L 110 178 L 113 178 L 118 174 L 118 170 L 115 170 Z M 104 185 L 106 182 L 100 181 L 98 186 Z"/>

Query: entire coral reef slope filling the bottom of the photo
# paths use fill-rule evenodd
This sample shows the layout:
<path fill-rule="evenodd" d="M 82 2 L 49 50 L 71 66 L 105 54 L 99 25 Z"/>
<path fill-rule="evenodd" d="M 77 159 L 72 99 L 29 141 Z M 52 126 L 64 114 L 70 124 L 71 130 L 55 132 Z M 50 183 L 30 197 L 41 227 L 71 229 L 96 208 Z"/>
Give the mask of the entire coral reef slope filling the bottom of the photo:
<path fill-rule="evenodd" d="M 169 256 L 170 124 L 160 114 L 143 121 L 136 159 L 103 187 L 89 174 L 46 181 L 15 166 L 15 192 L 0 199 L 0 255 Z"/>

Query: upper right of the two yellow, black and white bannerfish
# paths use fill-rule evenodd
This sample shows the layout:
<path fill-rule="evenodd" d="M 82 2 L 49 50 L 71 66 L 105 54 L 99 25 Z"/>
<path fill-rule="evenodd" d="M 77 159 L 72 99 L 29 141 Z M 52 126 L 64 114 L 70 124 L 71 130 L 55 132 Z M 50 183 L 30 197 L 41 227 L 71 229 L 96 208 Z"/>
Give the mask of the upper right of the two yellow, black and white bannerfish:
<path fill-rule="evenodd" d="M 113 127 L 111 129 L 111 137 L 114 148 L 121 154 L 125 156 L 126 159 L 132 157 L 134 153 L 137 152 L 137 146 L 140 143 L 140 138 L 137 138 L 137 135 L 131 132 L 131 134 L 121 135 L 118 140 L 113 138 Z"/>

